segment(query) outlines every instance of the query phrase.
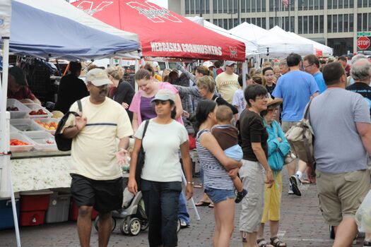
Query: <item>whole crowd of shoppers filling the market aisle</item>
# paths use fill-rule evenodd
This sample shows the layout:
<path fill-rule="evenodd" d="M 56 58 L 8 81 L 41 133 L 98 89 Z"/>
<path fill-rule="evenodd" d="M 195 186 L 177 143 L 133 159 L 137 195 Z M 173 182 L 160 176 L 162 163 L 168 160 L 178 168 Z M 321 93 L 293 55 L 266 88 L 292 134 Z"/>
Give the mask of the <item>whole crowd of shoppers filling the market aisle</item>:
<path fill-rule="evenodd" d="M 82 99 L 81 115 L 71 115 L 63 131 L 66 138 L 73 138 L 71 153 L 76 165 L 71 171 L 71 188 L 79 207 L 81 246 L 90 242 L 88 219 L 93 207 L 100 214 L 100 244 L 107 246 L 110 210 L 119 208 L 122 200 L 116 163 L 126 162 L 129 135 L 135 138 L 128 185 L 131 193 L 138 192 L 136 162 L 141 147 L 146 153 L 140 175 L 149 246 L 177 246 L 178 219 L 182 226 L 190 225 L 186 200 L 192 197 L 194 184 L 189 157 L 192 138 L 204 188 L 196 205 L 214 208 L 214 247 L 230 246 L 235 203 L 241 204 L 238 229 L 242 246 L 287 246 L 278 236 L 284 184 L 288 183 L 289 194 L 301 196 L 305 171 L 308 182 L 317 182 L 325 221 L 335 227 L 334 246 L 350 246 L 357 234 L 355 212 L 370 190 L 371 64 L 361 55 L 354 56 L 351 63 L 344 59 L 341 56 L 324 65 L 314 55 L 302 59 L 290 54 L 275 64 L 266 61 L 261 68 L 251 68 L 245 76 L 237 75 L 235 61 L 225 61 L 224 66 L 220 61 L 205 61 L 194 74 L 177 64 L 177 70 L 164 71 L 163 77 L 155 64 L 146 64 L 135 75 L 137 92 L 123 80 L 119 66 L 89 71 L 87 85 L 82 85 L 78 79 L 81 65 L 71 64 L 57 105 L 64 105 L 63 112 L 78 112 L 76 100 Z M 89 96 L 64 100 L 67 82 Z M 285 157 L 293 152 L 285 132 L 303 119 L 306 107 L 315 136 L 316 176 L 305 162 L 293 159 L 287 164 L 289 181 L 283 182 Z M 191 122 L 194 137 L 187 128 Z M 119 138 L 118 146 L 107 143 L 114 138 Z M 107 152 L 91 154 L 98 147 L 84 144 L 97 141 Z M 103 163 L 110 165 L 99 167 Z M 186 196 L 182 193 L 182 165 Z M 102 193 L 108 189 L 110 193 Z M 264 238 L 267 223 L 268 240 Z M 364 246 L 371 246 L 370 237 L 366 233 Z"/>

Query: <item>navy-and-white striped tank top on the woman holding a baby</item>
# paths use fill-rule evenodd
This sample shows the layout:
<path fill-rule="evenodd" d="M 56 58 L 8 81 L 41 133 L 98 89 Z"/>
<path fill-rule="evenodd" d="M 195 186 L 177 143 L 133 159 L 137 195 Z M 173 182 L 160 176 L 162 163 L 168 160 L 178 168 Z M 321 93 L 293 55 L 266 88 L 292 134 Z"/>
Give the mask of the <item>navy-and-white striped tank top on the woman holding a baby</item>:
<path fill-rule="evenodd" d="M 196 147 L 199 155 L 201 169 L 203 171 L 204 189 L 216 188 L 220 190 L 233 190 L 232 179 L 228 176 L 222 164 L 214 155 L 200 144 L 200 138 L 203 133 L 211 133 L 210 130 L 204 129 L 199 131 L 196 136 Z"/>

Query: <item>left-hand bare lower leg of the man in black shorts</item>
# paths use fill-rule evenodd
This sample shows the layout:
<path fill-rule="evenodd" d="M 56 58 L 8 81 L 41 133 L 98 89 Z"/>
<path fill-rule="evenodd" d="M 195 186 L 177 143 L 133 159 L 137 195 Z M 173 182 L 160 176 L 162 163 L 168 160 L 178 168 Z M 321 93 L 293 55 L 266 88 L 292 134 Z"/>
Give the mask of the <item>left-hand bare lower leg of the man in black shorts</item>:
<path fill-rule="evenodd" d="M 78 207 L 77 232 L 78 232 L 78 239 L 80 240 L 81 247 L 90 246 L 91 213 L 92 212 L 93 212 L 93 207 L 90 207 L 90 206 Z"/>

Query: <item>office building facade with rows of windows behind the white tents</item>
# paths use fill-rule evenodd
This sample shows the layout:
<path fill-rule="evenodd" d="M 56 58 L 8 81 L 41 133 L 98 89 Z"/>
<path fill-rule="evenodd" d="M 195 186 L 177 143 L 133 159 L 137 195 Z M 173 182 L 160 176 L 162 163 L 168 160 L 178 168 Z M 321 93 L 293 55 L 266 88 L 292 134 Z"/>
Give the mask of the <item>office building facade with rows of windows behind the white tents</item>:
<path fill-rule="evenodd" d="M 371 0 L 171 0 L 169 9 L 226 30 L 245 21 L 266 30 L 278 25 L 334 48 L 336 56 L 357 52 L 358 36 L 371 36 Z"/>

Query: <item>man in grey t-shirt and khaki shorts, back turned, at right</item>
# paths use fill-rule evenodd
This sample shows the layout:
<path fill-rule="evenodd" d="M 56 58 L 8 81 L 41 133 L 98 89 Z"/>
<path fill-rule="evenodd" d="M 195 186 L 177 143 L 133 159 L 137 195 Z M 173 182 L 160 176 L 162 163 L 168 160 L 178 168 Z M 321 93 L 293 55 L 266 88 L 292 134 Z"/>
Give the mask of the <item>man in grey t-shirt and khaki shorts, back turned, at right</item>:
<path fill-rule="evenodd" d="M 310 105 L 319 205 L 335 227 L 334 246 L 351 246 L 357 234 L 355 212 L 370 190 L 370 109 L 361 95 L 345 90 L 341 64 L 330 63 L 322 72 L 327 90 Z"/>

